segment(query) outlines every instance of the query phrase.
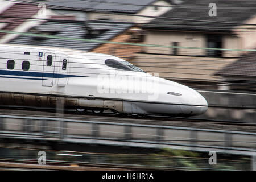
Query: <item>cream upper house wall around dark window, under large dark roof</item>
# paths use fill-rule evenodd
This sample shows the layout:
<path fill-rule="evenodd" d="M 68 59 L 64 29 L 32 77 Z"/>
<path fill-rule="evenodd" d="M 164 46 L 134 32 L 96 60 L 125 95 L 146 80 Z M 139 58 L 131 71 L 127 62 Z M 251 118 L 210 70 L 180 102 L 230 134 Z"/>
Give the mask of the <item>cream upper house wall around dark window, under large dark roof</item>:
<path fill-rule="evenodd" d="M 223 35 L 222 48 L 226 49 L 242 49 L 242 38 L 239 35 Z M 156 44 L 164 46 L 172 46 L 173 42 L 178 42 L 181 47 L 199 47 L 207 46 L 207 35 L 200 32 L 177 32 L 177 31 L 154 31 L 148 30 L 146 34 L 146 44 Z M 146 47 L 147 53 L 172 54 L 173 48 L 162 47 Z M 186 49 L 178 48 L 178 55 L 206 55 L 204 49 Z M 236 57 L 241 54 L 241 51 L 222 51 L 224 57 Z"/>

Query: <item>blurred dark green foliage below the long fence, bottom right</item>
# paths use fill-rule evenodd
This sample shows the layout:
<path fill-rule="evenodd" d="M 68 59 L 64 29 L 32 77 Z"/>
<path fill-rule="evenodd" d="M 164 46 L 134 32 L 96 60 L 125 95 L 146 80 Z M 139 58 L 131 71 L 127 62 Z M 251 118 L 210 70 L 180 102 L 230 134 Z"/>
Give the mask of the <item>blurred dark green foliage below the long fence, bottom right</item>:
<path fill-rule="evenodd" d="M 130 164 L 139 166 L 162 167 L 186 170 L 250 170 L 250 158 L 244 156 L 218 155 L 217 164 L 210 165 L 208 155 L 202 152 L 163 148 L 154 154 L 110 154 L 101 162 L 114 164 Z M 104 160 L 103 160 L 104 159 Z"/>

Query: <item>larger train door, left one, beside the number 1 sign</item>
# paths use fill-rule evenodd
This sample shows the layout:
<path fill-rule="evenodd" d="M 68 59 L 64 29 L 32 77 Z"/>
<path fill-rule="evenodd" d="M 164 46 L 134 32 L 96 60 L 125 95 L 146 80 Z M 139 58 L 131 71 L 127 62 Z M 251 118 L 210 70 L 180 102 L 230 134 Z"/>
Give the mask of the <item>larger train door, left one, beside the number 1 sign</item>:
<path fill-rule="evenodd" d="M 55 54 L 44 53 L 42 86 L 52 86 L 55 69 Z"/>

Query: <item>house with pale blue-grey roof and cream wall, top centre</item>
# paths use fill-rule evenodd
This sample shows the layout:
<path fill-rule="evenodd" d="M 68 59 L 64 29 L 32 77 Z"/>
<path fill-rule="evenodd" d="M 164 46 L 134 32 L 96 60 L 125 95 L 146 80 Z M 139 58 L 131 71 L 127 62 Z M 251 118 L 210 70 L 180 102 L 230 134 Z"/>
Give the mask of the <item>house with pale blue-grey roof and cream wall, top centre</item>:
<path fill-rule="evenodd" d="M 77 20 L 104 20 L 115 22 L 146 23 L 172 8 L 179 1 L 171 0 L 102 0 L 102 1 L 68 1 L 51 0 L 47 6 L 59 14 L 75 15 Z M 84 10 L 84 11 L 82 11 Z M 113 14 L 117 13 L 117 14 Z"/>

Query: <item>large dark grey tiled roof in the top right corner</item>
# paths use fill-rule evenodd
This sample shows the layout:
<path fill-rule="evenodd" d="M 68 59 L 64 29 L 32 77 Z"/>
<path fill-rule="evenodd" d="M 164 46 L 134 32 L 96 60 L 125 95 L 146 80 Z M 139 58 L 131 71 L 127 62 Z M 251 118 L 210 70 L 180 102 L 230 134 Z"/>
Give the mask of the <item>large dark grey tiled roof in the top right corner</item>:
<path fill-rule="evenodd" d="M 209 16 L 209 4 L 216 3 L 217 16 Z M 204 20 L 214 22 L 191 22 L 187 20 L 155 18 L 144 25 L 144 28 L 167 30 L 199 30 L 229 32 L 237 24 L 216 23 L 234 22 L 243 23 L 256 14 L 255 0 L 187 0 L 177 5 L 159 17 L 180 18 L 189 20 Z"/>

